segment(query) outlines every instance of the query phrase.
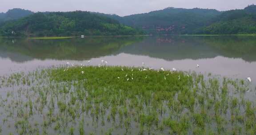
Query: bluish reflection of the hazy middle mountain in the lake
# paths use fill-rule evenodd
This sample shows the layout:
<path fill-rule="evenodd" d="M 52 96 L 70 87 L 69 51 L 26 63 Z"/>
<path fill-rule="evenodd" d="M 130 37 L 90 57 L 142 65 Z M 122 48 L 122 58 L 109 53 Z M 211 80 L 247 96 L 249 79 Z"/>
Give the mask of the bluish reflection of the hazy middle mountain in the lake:
<path fill-rule="evenodd" d="M 209 46 L 204 45 L 202 40 L 180 37 L 148 38 L 142 43 L 126 46 L 120 52 L 164 60 L 196 60 L 217 56 L 217 53 Z"/>

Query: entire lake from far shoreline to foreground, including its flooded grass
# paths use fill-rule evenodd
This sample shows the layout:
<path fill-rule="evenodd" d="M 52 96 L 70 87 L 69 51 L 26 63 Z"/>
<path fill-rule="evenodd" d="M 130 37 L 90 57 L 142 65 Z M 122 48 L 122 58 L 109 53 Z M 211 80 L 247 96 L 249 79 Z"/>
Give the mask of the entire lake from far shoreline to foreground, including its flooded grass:
<path fill-rule="evenodd" d="M 255 52 L 255 36 L 0 38 L 0 133 L 253 135 Z"/>

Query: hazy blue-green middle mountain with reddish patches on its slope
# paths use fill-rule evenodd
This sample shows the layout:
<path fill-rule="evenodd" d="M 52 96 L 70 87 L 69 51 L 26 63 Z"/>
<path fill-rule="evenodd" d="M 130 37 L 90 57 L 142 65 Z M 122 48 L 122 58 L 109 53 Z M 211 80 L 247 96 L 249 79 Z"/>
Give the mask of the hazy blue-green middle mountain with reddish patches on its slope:
<path fill-rule="evenodd" d="M 141 28 L 148 34 L 185 34 L 208 26 L 221 12 L 215 9 L 165 8 L 130 16 L 106 15 L 133 28 Z"/>

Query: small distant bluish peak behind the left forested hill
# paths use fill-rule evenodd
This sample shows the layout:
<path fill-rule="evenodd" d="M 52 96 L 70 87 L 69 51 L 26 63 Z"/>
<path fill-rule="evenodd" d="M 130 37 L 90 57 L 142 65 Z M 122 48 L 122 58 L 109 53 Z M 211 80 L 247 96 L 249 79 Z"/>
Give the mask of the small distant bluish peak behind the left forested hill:
<path fill-rule="evenodd" d="M 0 22 L 7 21 L 7 20 L 16 20 L 20 19 L 25 16 L 29 16 L 33 14 L 34 12 L 21 9 L 21 8 L 13 8 L 8 10 L 6 13 L 0 13 Z"/>

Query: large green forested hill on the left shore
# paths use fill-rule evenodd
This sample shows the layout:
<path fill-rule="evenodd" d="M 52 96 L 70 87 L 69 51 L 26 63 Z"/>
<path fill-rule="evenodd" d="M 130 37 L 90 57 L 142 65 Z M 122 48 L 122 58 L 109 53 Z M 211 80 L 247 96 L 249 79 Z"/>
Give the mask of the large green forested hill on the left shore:
<path fill-rule="evenodd" d="M 138 35 L 134 28 L 92 12 L 38 12 L 0 26 L 2 36 Z"/>

